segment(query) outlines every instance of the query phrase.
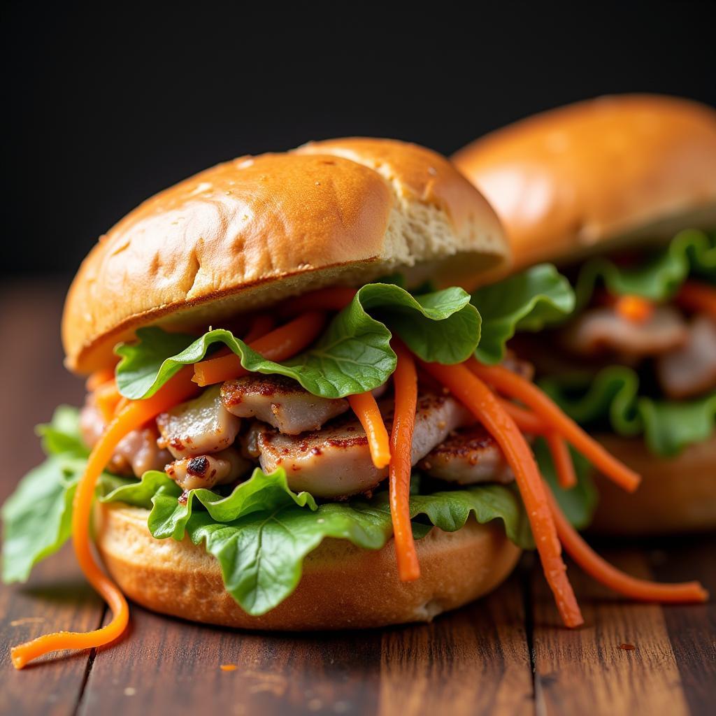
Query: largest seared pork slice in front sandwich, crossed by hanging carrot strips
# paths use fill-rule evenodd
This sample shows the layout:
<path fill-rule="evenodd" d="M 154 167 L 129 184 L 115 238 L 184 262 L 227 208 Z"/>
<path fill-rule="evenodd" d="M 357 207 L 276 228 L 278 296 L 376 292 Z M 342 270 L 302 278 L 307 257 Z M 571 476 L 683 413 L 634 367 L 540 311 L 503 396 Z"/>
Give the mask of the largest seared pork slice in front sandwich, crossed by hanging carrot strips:
<path fill-rule="evenodd" d="M 392 405 L 382 406 L 390 430 Z M 422 395 L 417 402 L 412 463 L 415 465 L 451 430 L 471 422 L 470 413 L 453 398 Z M 246 440 L 248 454 L 259 455 L 267 473 L 284 468 L 292 490 L 308 490 L 321 498 L 347 497 L 367 492 L 387 477 L 387 468 L 378 470 L 372 463 L 368 439 L 360 422 L 344 416 L 323 430 L 302 435 L 283 435 L 261 423 Z"/>

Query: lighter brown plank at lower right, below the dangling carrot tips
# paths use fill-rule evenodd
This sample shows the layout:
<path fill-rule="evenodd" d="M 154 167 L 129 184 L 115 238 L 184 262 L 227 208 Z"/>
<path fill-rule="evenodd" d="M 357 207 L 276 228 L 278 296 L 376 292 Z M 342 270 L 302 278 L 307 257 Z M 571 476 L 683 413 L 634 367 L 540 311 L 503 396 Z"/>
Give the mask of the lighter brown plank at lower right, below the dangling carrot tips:
<path fill-rule="evenodd" d="M 604 556 L 629 574 L 653 576 L 639 548 L 609 550 Z M 569 630 L 560 626 L 538 571 L 532 634 L 538 713 L 689 713 L 662 606 L 615 598 L 571 564 L 585 625 Z"/>

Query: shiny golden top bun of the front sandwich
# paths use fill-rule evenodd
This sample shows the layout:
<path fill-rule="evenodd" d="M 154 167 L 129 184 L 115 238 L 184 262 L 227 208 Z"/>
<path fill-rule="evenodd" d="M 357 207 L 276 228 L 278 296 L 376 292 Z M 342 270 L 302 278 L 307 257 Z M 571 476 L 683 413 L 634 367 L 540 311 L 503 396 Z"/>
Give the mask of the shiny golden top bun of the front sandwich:
<path fill-rule="evenodd" d="M 147 324 L 216 325 L 397 270 L 453 281 L 508 252 L 490 205 L 423 147 L 354 138 L 238 158 L 158 193 L 100 237 L 64 306 L 66 364 L 107 365 Z"/>

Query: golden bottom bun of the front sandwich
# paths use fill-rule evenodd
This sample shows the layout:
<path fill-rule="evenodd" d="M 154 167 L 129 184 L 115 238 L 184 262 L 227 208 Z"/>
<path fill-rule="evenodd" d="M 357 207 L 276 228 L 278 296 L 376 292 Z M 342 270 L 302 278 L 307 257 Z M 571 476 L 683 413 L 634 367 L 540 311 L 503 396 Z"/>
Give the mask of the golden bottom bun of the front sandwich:
<path fill-rule="evenodd" d="M 296 591 L 263 616 L 249 616 L 224 589 L 218 562 L 203 546 L 156 540 L 141 508 L 100 505 L 95 517 L 102 559 L 130 599 L 164 614 L 242 629 L 361 629 L 430 621 L 495 589 L 520 555 L 501 523 L 470 520 L 457 532 L 434 529 L 417 541 L 422 576 L 404 583 L 397 577 L 392 541 L 370 551 L 326 539 L 306 558 Z"/>

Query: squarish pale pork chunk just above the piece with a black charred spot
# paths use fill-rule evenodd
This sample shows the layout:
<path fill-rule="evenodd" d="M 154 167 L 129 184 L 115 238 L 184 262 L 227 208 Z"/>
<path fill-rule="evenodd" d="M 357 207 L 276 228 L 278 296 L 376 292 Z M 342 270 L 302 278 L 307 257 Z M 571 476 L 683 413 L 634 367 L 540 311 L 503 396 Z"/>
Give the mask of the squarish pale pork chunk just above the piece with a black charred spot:
<path fill-rule="evenodd" d="M 214 385 L 198 398 L 159 415 L 160 448 L 166 448 L 178 460 L 228 448 L 241 420 L 223 407 L 220 393 L 221 387 Z"/>

